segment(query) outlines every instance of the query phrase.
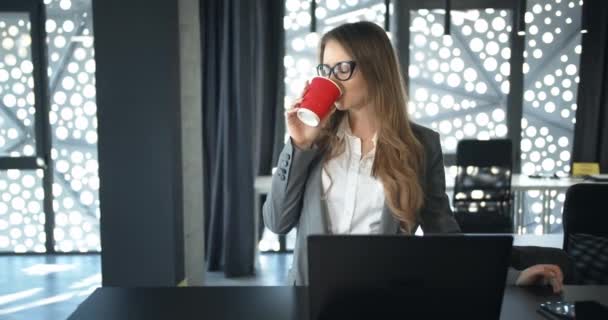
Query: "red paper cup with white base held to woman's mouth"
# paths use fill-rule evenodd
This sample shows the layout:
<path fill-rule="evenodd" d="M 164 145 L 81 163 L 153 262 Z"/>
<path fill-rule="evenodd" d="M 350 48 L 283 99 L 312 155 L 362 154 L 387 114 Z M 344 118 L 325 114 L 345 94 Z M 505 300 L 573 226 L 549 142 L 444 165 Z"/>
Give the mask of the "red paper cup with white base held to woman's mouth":
<path fill-rule="evenodd" d="M 314 77 L 300 103 L 298 118 L 308 126 L 318 126 L 341 95 L 342 89 L 338 84 L 328 78 Z"/>

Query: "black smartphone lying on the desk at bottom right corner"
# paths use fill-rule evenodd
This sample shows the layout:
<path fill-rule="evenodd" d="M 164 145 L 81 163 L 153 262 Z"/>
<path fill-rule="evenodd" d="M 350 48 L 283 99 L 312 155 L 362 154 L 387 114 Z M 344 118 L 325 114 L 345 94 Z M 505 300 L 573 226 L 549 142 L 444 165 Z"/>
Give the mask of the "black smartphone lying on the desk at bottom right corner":
<path fill-rule="evenodd" d="M 608 307 L 596 301 L 545 302 L 540 304 L 538 312 L 547 319 L 555 320 L 608 319 Z"/>

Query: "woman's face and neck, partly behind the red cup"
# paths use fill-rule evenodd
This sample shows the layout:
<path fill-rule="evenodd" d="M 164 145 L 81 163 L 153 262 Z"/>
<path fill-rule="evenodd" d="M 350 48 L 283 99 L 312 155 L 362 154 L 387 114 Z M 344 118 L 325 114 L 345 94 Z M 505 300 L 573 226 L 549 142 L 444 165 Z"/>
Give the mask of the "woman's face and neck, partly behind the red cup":
<path fill-rule="evenodd" d="M 323 52 L 323 64 L 333 68 L 339 62 L 354 61 L 346 50 L 335 40 L 329 40 L 325 44 L 325 51 Z M 358 63 L 355 61 L 355 63 Z M 360 66 L 356 65 L 352 76 L 348 80 L 340 80 L 336 78 L 336 75 L 332 72 L 330 79 L 335 81 L 341 88 L 343 95 L 336 101 L 336 108 L 338 110 L 359 110 L 364 108 L 368 103 L 367 85 L 363 75 L 360 72 Z M 340 69 L 340 67 L 336 68 Z M 337 71 L 337 70 L 335 70 Z M 341 74 L 340 77 L 344 78 L 348 74 Z"/>

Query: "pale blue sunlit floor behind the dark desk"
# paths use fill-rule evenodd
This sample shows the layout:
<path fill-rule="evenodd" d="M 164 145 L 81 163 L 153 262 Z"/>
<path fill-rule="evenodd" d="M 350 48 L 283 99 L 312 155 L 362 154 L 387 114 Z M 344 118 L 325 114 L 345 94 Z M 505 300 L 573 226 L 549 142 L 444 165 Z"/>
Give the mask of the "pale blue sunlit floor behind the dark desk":
<path fill-rule="evenodd" d="M 291 261 L 291 254 L 261 254 L 254 276 L 207 272 L 205 285 L 284 285 Z M 66 319 L 100 286 L 99 255 L 0 256 L 0 319 Z"/>

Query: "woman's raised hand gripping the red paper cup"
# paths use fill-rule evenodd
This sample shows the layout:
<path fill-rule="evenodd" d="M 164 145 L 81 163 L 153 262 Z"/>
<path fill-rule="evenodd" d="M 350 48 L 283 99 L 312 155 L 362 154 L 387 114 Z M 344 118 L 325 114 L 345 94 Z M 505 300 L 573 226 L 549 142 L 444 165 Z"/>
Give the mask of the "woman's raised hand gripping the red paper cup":
<path fill-rule="evenodd" d="M 300 108 L 302 98 L 306 94 L 306 91 L 308 90 L 309 86 L 310 83 L 306 81 L 306 84 L 304 85 L 304 90 L 302 91 L 300 97 L 294 102 L 294 104 L 289 110 L 285 111 L 285 119 L 287 120 L 287 131 L 289 132 L 291 140 L 299 149 L 310 149 L 314 141 L 319 136 L 321 128 L 323 128 L 323 126 L 327 122 L 327 119 L 329 119 L 330 115 L 335 110 L 335 107 L 332 107 L 332 111 L 330 111 L 329 115 L 327 115 L 325 119 L 323 119 L 323 121 L 321 121 L 321 123 L 316 127 L 310 127 L 300 121 L 297 115 L 298 109 Z"/>

